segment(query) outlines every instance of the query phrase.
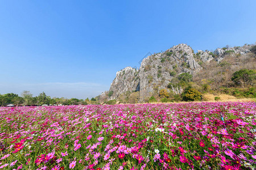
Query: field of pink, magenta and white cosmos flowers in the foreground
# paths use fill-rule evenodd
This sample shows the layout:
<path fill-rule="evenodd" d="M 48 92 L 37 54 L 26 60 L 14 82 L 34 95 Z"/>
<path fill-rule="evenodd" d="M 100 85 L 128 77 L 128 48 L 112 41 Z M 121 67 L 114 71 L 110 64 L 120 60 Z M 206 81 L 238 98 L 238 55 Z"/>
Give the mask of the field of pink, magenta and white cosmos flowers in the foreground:
<path fill-rule="evenodd" d="M 253 102 L 0 108 L 0 169 L 254 169 Z"/>

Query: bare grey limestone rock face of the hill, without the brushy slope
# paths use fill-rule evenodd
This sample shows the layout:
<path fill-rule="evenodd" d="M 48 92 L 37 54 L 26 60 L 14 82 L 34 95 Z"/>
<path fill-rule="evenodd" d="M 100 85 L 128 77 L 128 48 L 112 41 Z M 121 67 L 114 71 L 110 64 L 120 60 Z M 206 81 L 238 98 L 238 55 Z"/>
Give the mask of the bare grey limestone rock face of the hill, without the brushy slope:
<path fill-rule="evenodd" d="M 193 49 L 186 44 L 179 44 L 163 53 L 153 54 L 144 58 L 139 70 L 126 67 L 117 72 L 109 91 L 100 95 L 108 100 L 117 99 L 126 92 L 139 91 L 140 101 L 143 102 L 153 94 L 165 88 L 174 79 L 175 75 L 189 73 L 192 76 L 198 73 L 202 67 L 199 62 L 208 64 L 210 61 L 221 62 L 226 54 L 245 54 L 250 52 L 250 45 L 234 48 L 217 48 L 214 52 L 198 50 L 195 54 Z M 180 94 L 181 87 L 169 86 L 167 91 L 172 90 Z"/>

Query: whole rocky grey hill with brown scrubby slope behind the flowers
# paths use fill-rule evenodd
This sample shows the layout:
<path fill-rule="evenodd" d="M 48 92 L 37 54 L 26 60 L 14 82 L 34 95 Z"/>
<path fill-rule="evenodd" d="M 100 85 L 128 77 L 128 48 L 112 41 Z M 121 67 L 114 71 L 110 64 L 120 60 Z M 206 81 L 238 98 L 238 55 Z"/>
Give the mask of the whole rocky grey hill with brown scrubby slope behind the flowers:
<path fill-rule="evenodd" d="M 144 58 L 139 69 L 125 67 L 118 71 L 109 91 L 97 99 L 101 102 L 115 99 L 122 103 L 147 102 L 152 96 L 156 100 L 175 99 L 188 86 L 200 92 L 221 92 L 223 88 L 235 87 L 231 80 L 234 72 L 255 69 L 255 56 L 255 45 L 226 46 L 214 52 L 198 50 L 195 53 L 189 45 L 179 44 Z M 161 90 L 168 95 L 160 95 Z"/>

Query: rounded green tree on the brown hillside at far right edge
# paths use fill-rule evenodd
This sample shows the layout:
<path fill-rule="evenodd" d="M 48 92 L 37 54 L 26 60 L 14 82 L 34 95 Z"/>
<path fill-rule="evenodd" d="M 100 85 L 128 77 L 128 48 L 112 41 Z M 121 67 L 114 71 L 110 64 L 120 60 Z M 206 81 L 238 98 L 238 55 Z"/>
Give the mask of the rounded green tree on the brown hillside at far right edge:
<path fill-rule="evenodd" d="M 242 70 L 236 71 L 233 74 L 231 80 L 236 85 L 242 85 L 242 86 L 253 85 L 256 80 L 256 70 L 242 69 Z"/>

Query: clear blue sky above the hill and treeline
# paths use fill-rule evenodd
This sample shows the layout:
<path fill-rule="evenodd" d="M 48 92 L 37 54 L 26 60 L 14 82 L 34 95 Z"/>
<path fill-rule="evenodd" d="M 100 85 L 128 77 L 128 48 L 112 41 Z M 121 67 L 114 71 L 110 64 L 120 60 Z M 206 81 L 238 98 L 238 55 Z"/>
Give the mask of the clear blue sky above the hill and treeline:
<path fill-rule="evenodd" d="M 2 1 L 0 94 L 86 99 L 148 53 L 256 41 L 256 1 Z"/>

